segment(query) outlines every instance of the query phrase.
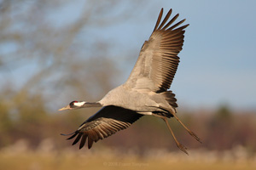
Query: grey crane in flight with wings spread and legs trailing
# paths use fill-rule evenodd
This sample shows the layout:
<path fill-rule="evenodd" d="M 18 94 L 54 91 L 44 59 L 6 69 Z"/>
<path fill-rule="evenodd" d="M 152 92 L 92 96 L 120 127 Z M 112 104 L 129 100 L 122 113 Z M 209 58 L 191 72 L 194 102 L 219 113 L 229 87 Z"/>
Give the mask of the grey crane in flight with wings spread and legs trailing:
<path fill-rule="evenodd" d="M 93 142 L 130 127 L 133 122 L 145 115 L 164 120 L 177 147 L 186 154 L 188 154 L 187 148 L 177 141 L 167 118 L 176 118 L 191 136 L 201 142 L 201 139 L 177 117 L 177 99 L 175 94 L 168 90 L 177 71 L 179 63 L 177 54 L 183 47 L 184 29 L 189 24 L 180 26 L 185 20 L 173 24 L 178 14 L 169 20 L 172 8 L 160 22 L 162 14 L 163 8 L 160 10 L 154 31 L 148 41 L 144 42 L 136 65 L 124 84 L 113 88 L 97 102 L 73 101 L 59 110 L 102 107 L 74 133 L 62 134 L 71 135 L 68 139 L 75 138 L 73 144 L 77 144 L 80 140 L 79 149 L 84 146 L 86 139 L 90 149 Z"/>

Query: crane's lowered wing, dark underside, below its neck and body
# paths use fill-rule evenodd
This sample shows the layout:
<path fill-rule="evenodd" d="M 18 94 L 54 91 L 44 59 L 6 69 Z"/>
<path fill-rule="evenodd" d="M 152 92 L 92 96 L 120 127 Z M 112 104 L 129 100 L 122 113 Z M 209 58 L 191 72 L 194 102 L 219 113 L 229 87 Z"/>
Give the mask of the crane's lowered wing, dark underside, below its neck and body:
<path fill-rule="evenodd" d="M 81 139 L 79 149 L 84 146 L 86 139 L 88 139 L 88 148 L 90 149 L 93 142 L 108 138 L 108 136 L 117 133 L 119 130 L 130 127 L 141 116 L 143 115 L 138 114 L 136 111 L 108 105 L 96 112 L 95 115 L 90 116 L 77 131 L 67 134 L 72 135 L 68 139 L 76 137 L 73 144 L 77 144 Z"/>

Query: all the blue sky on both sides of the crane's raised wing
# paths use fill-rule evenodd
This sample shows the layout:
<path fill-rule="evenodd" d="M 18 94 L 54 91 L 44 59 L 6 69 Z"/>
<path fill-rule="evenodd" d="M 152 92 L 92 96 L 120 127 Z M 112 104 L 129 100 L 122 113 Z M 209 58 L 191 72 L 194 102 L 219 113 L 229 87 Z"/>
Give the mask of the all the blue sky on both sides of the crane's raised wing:
<path fill-rule="evenodd" d="M 78 17 L 84 1 L 77 2 L 68 8 L 56 9 L 56 14 L 50 15 L 51 20 L 61 23 Z M 91 31 L 92 37 L 111 42 L 109 51 L 113 59 L 120 53 L 131 56 L 128 62 L 127 57 L 118 61 L 124 75 L 117 77 L 117 85 L 129 76 L 143 42 L 153 31 L 160 8 L 164 8 L 164 14 L 172 8 L 173 14 L 180 14 L 178 20 L 185 18 L 185 24 L 189 24 L 171 87 L 177 94 L 178 104 L 192 108 L 227 104 L 237 109 L 256 110 L 256 1 L 145 2 L 147 4 L 139 3 L 131 11 L 137 16 L 132 20 L 124 20 L 104 31 L 101 28 Z M 125 5 L 120 10 L 122 8 L 126 8 Z"/>

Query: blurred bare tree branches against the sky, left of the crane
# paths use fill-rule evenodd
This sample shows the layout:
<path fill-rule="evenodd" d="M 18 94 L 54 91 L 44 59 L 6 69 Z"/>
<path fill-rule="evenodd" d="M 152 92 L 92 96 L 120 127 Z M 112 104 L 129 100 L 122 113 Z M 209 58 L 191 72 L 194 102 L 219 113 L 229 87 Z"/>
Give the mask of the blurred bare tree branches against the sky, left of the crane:
<path fill-rule="evenodd" d="M 74 5 L 76 7 L 82 6 L 79 12 L 71 7 L 75 3 L 79 3 Z M 63 99 L 62 91 L 76 98 L 85 95 L 92 98 L 92 93 L 98 98 L 113 88 L 113 74 L 119 71 L 114 61 L 108 58 L 108 42 L 94 39 L 90 34 L 96 28 L 104 30 L 132 17 L 128 11 L 138 2 L 131 1 L 119 10 L 123 3 L 70 3 L 60 0 L 0 2 L 0 48 L 4 49 L 0 51 L 0 71 L 17 74 L 13 76 L 15 80 L 8 79 L 0 86 L 9 86 L 19 80 L 25 82 L 16 86 L 18 89 L 13 95 L 15 105 L 26 93 L 43 94 L 46 101 L 54 101 Z M 73 16 L 73 12 L 78 13 L 77 16 Z M 17 71 L 22 67 L 30 69 Z M 89 87 L 90 91 L 86 91 L 85 87 Z"/>

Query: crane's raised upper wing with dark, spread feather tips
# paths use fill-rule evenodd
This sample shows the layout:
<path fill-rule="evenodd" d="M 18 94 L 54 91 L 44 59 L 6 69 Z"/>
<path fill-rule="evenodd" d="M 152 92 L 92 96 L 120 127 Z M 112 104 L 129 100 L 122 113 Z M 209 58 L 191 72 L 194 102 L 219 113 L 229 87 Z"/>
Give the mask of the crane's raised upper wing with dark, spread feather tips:
<path fill-rule="evenodd" d="M 162 14 L 163 8 L 161 8 L 153 33 L 148 41 L 144 42 L 137 63 L 125 82 L 128 88 L 163 92 L 172 84 L 179 63 L 177 54 L 183 47 L 185 32 L 183 29 L 189 25 L 177 27 L 185 21 L 181 20 L 171 26 L 178 14 L 166 24 L 172 14 L 172 9 L 160 24 Z"/>

